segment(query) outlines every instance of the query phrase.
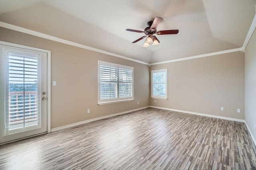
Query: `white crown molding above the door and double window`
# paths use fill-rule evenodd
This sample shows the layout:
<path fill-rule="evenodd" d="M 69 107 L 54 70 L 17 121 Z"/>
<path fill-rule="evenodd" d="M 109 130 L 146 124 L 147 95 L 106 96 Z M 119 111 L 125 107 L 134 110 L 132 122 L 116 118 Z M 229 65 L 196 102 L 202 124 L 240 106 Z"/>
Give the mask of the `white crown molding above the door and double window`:
<path fill-rule="evenodd" d="M 126 59 L 126 60 L 130 60 L 130 61 L 134 61 L 136 63 L 150 65 L 149 63 L 145 63 L 143 61 L 131 59 L 129 57 L 125 57 L 125 56 L 118 55 L 118 54 L 115 54 L 115 53 L 110 53 L 108 51 L 96 49 L 96 48 L 93 48 L 93 47 L 89 47 L 87 45 L 82 45 L 82 44 L 79 44 L 79 43 L 68 41 L 66 39 L 61 39 L 61 38 L 58 38 L 58 37 L 54 37 L 52 35 L 47 35 L 47 34 L 44 34 L 44 33 L 33 31 L 31 29 L 19 27 L 17 25 L 12 25 L 10 23 L 5 23 L 5 22 L 0 21 L 0 27 L 4 27 L 4 28 L 7 28 L 7 29 L 11 29 L 11 30 L 14 30 L 14 31 L 18 31 L 18 32 L 22 32 L 22 33 L 26 33 L 26 34 L 30 34 L 30 35 L 34 35 L 36 37 L 41 37 L 41 38 L 44 38 L 44 39 L 49 39 L 49 40 L 56 41 L 56 42 L 59 42 L 59 43 L 64 43 L 64 44 L 67 44 L 67 45 L 72 45 L 74 47 L 79 47 L 79 48 L 82 48 L 82 49 L 87 49 L 87 50 L 90 50 L 90 51 L 95 51 L 95 52 L 98 52 L 98 53 L 102 53 L 102 54 L 106 54 L 106 55 L 111 55 L 111 56 L 118 57 L 118 58 L 121 58 L 121 59 Z"/>

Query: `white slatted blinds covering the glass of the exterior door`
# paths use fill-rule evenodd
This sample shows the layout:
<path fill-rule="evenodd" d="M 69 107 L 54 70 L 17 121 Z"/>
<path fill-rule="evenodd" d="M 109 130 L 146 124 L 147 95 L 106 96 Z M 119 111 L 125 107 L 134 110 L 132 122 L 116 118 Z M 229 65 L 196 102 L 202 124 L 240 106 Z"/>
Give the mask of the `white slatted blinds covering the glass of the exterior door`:
<path fill-rule="evenodd" d="M 40 127 L 40 55 L 8 52 L 6 59 L 6 134 Z"/>

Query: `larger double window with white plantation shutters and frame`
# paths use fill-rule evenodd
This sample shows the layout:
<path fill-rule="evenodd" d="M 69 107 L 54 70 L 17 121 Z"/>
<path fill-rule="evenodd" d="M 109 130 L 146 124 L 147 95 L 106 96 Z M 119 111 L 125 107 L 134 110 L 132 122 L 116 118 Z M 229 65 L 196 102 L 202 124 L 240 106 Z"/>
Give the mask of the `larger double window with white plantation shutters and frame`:
<path fill-rule="evenodd" d="M 98 104 L 134 100 L 133 67 L 98 61 Z"/>

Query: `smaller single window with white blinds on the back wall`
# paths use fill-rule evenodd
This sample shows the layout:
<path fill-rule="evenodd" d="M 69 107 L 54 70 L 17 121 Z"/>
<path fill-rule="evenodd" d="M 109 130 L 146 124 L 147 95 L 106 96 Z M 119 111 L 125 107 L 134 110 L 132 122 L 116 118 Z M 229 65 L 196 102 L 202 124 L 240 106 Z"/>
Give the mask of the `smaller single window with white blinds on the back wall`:
<path fill-rule="evenodd" d="M 168 98 L 168 70 L 152 70 L 151 71 L 151 97 L 159 99 Z"/>

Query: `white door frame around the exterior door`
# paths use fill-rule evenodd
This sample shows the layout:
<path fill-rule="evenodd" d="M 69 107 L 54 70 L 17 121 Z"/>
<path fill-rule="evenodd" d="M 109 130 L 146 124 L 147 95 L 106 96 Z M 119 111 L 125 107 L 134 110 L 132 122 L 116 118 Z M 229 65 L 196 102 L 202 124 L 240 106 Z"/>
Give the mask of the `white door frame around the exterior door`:
<path fill-rule="evenodd" d="M 16 48 L 21 48 L 21 49 L 28 49 L 28 50 L 33 50 L 33 51 L 38 51 L 38 52 L 43 52 L 47 54 L 47 133 L 51 132 L 51 51 L 49 50 L 45 50 L 45 49 L 39 49 L 39 48 L 35 48 L 35 47 L 29 47 L 29 46 L 25 46 L 25 45 L 19 45 L 19 44 L 15 44 L 15 43 L 9 43 L 9 42 L 5 42 L 5 41 L 0 41 L 0 48 L 2 47 L 16 47 Z M 4 54 L 1 54 L 4 55 Z M 41 135 L 42 133 L 38 134 Z M 37 135 L 32 135 L 29 137 L 34 137 Z M 24 137 L 21 139 L 16 139 L 14 141 L 19 141 L 22 139 L 26 139 L 29 137 Z M 14 142 L 14 141 L 10 141 L 10 142 Z M 6 143 L 10 143 L 10 142 L 6 142 Z M 1 143 L 0 145 L 6 144 L 6 143 Z"/>

